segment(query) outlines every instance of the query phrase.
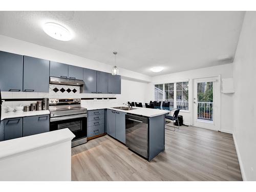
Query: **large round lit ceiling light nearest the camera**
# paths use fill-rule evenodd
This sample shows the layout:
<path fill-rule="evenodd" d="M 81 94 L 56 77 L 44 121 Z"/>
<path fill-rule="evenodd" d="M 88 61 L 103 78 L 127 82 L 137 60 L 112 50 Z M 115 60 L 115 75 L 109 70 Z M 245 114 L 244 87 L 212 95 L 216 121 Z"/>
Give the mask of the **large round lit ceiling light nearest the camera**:
<path fill-rule="evenodd" d="M 68 41 L 72 38 L 70 31 L 59 24 L 46 23 L 44 25 L 44 31 L 47 35 L 58 40 Z"/>

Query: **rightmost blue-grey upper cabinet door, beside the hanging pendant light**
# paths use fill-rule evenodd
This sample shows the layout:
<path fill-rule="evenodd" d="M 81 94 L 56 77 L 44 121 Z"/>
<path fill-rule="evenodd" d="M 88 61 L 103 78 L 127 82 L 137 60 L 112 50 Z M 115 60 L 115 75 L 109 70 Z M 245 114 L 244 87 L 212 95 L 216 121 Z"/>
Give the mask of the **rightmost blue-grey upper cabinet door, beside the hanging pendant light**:
<path fill-rule="evenodd" d="M 121 94 L 121 76 L 108 73 L 108 93 Z"/>

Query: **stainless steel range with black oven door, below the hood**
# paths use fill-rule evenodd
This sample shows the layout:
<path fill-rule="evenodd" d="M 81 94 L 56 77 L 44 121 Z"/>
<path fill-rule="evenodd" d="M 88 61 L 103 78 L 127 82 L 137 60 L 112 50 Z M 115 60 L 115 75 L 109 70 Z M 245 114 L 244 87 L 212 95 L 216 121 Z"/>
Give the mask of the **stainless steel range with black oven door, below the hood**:
<path fill-rule="evenodd" d="M 50 131 L 68 128 L 75 135 L 72 147 L 87 142 L 87 109 L 80 99 L 49 99 Z"/>

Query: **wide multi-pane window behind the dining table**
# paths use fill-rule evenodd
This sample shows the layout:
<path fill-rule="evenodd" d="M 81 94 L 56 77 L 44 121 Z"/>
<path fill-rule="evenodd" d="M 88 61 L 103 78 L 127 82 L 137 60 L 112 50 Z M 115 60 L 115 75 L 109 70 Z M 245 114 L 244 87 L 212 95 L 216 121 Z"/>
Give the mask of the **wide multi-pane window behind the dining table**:
<path fill-rule="evenodd" d="M 172 108 L 188 111 L 188 81 L 155 84 L 155 101 L 169 101 Z"/>

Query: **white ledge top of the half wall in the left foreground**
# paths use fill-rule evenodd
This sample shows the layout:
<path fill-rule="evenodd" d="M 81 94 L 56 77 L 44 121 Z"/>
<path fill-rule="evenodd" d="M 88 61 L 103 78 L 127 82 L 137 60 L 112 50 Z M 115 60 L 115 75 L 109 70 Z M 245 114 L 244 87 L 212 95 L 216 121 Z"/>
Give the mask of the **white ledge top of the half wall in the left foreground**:
<path fill-rule="evenodd" d="M 61 129 L 0 142 L 0 160 L 12 155 L 25 153 L 54 143 L 72 140 L 75 135 L 68 129 Z"/>

